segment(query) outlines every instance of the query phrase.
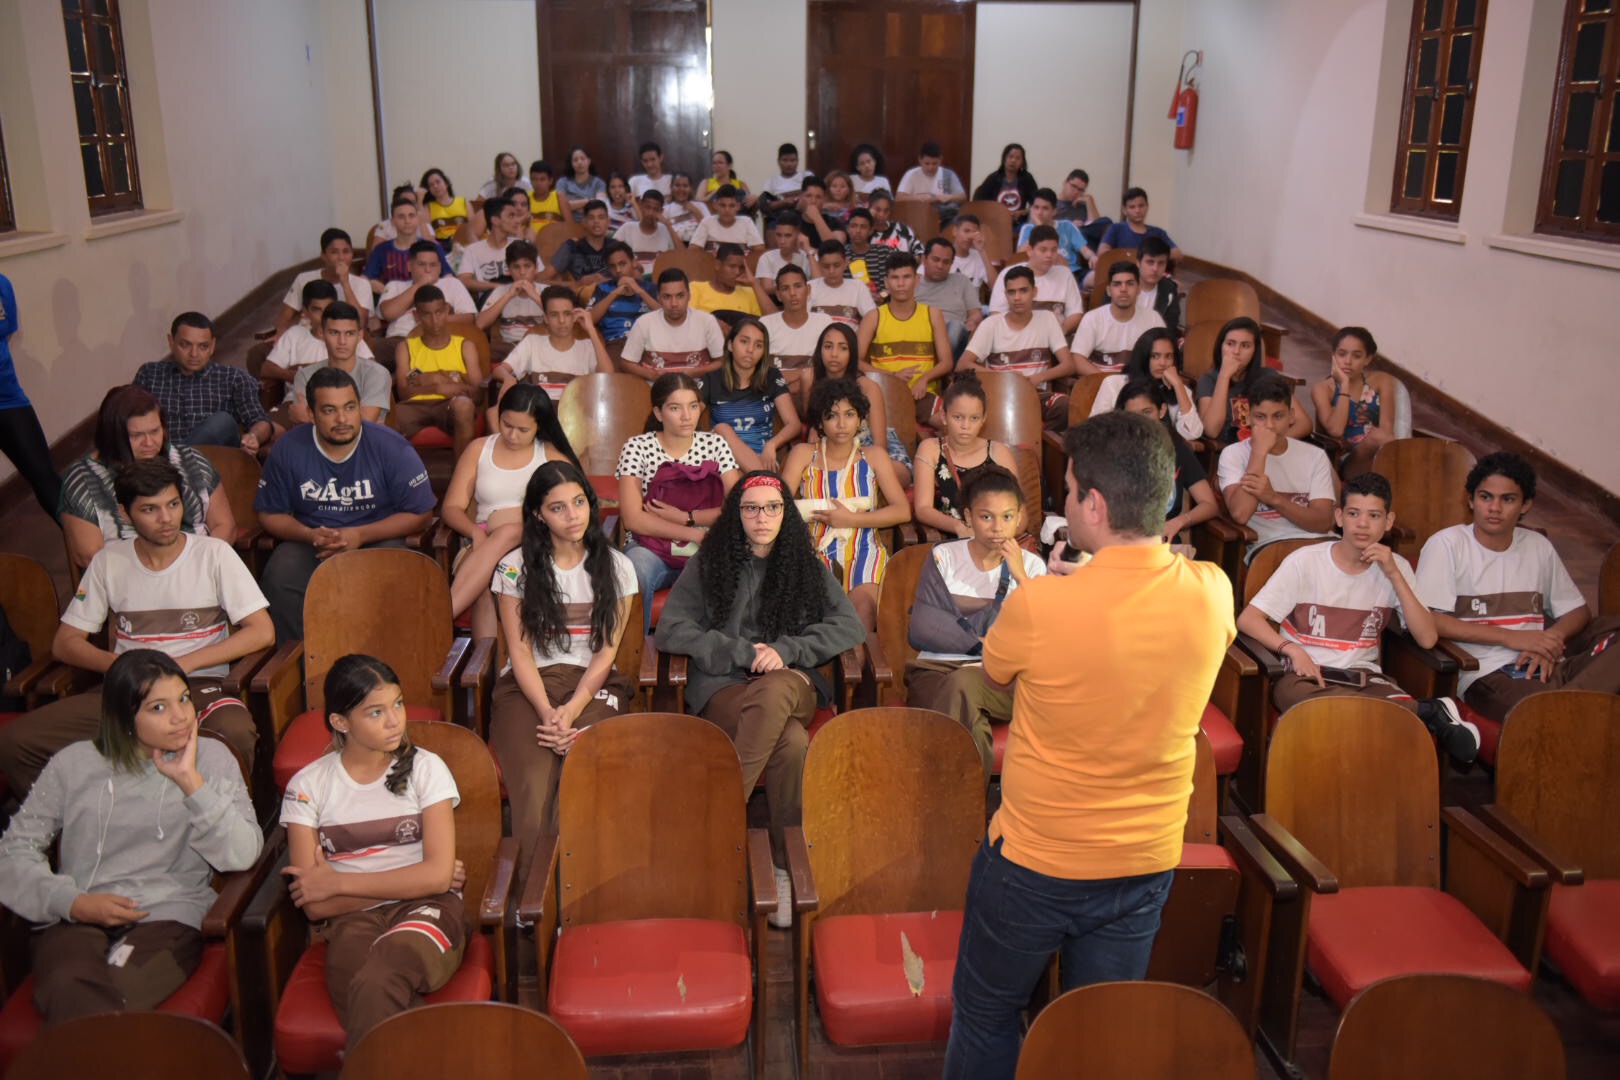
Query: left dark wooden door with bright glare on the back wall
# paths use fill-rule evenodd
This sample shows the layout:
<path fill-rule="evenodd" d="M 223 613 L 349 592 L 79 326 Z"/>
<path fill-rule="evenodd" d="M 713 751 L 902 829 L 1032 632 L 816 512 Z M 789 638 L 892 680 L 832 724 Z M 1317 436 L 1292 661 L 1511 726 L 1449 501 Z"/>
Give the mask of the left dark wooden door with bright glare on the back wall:
<path fill-rule="evenodd" d="M 539 134 L 564 175 L 585 146 L 596 172 L 642 172 L 637 147 L 664 147 L 664 172 L 706 176 L 706 0 L 538 0 Z"/>

